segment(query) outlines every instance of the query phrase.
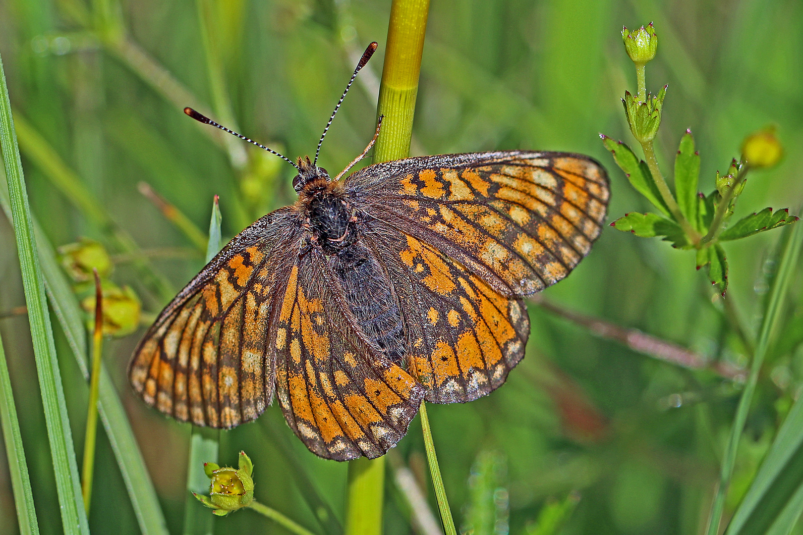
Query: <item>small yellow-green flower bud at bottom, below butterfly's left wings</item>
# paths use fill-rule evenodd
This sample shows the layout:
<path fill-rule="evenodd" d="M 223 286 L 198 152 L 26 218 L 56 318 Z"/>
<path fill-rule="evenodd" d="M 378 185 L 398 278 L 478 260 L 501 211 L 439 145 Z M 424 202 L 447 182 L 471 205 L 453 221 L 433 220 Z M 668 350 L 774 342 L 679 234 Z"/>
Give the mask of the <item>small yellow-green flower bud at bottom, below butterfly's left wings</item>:
<path fill-rule="evenodd" d="M 243 509 L 254 501 L 254 464 L 251 459 L 240 452 L 239 468 L 220 468 L 214 463 L 205 463 L 204 472 L 210 478 L 209 496 L 193 493 L 198 501 L 210 509 L 218 517 L 225 517 L 237 509 Z"/>

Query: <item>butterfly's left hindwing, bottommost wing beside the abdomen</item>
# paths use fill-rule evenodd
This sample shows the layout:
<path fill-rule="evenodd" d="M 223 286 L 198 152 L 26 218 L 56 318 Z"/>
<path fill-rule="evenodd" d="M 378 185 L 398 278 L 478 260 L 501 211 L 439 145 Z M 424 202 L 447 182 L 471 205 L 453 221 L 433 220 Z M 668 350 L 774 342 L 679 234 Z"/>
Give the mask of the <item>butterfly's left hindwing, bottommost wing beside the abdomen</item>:
<path fill-rule="evenodd" d="M 312 452 L 374 458 L 405 436 L 424 390 L 365 337 L 342 294 L 320 249 L 292 267 L 271 336 L 276 395 Z"/>

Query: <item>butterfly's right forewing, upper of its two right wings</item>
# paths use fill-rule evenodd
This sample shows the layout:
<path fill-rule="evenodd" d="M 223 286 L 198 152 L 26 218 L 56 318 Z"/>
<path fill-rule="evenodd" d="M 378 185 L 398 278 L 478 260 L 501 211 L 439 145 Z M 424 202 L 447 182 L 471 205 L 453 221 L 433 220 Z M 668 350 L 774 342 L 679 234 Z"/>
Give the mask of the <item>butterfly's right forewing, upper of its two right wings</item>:
<path fill-rule="evenodd" d="M 599 236 L 609 198 L 600 164 L 560 152 L 396 160 L 355 172 L 346 188 L 366 213 L 516 296 L 569 274 Z"/>

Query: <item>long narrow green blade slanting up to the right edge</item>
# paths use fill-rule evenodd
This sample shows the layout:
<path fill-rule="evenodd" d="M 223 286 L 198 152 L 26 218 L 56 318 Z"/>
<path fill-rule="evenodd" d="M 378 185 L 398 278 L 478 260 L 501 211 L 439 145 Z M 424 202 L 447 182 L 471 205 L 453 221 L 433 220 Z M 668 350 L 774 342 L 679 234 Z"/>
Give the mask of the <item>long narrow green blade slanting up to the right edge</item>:
<path fill-rule="evenodd" d="M 756 391 L 756 382 L 761 371 L 761 364 L 764 363 L 764 356 L 767 354 L 772 334 L 777 326 L 778 318 L 781 316 L 786 291 L 789 289 L 797 267 L 801 243 L 803 243 L 803 226 L 793 225 L 789 240 L 786 242 L 783 253 L 781 253 L 781 262 L 778 265 L 775 281 L 772 282 L 767 309 L 764 311 L 764 319 L 761 322 L 761 329 L 756 342 L 756 352 L 753 355 L 750 366 L 750 375 L 748 375 L 747 383 L 744 384 L 744 391 L 742 391 L 742 396 L 739 399 L 739 405 L 736 407 L 736 417 L 733 420 L 728 445 L 725 447 L 719 472 L 719 484 L 714 502 L 711 505 L 711 515 L 708 518 L 707 535 L 716 535 L 719 532 L 719 520 L 722 517 L 725 496 L 728 494 L 728 485 L 731 482 L 733 467 L 736 464 L 736 450 L 739 447 L 739 439 L 744 430 L 744 423 L 748 418 L 753 394 Z"/>

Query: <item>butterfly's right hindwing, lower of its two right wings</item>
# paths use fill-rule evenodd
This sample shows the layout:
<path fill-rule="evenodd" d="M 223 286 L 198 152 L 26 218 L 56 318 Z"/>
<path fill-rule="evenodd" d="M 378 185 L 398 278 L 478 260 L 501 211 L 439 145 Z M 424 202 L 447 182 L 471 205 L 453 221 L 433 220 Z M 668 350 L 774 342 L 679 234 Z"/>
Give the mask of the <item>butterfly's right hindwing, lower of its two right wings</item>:
<path fill-rule="evenodd" d="M 527 309 L 434 246 L 373 221 L 405 318 L 408 369 L 426 400 L 465 403 L 489 394 L 524 357 Z"/>

